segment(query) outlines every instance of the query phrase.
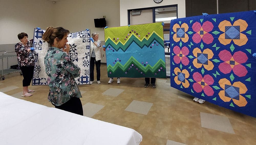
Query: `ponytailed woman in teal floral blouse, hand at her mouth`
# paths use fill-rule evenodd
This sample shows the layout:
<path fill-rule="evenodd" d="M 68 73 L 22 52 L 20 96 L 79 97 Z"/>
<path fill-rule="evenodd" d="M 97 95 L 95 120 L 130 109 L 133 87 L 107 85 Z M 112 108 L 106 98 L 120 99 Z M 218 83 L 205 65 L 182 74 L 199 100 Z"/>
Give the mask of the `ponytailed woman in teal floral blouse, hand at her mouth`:
<path fill-rule="evenodd" d="M 50 87 L 48 100 L 55 108 L 83 115 L 79 88 L 74 80 L 80 75 L 80 68 L 70 59 L 69 31 L 62 27 L 48 27 L 42 36 L 49 43 L 49 51 L 45 56 L 45 71 L 49 76 Z"/>

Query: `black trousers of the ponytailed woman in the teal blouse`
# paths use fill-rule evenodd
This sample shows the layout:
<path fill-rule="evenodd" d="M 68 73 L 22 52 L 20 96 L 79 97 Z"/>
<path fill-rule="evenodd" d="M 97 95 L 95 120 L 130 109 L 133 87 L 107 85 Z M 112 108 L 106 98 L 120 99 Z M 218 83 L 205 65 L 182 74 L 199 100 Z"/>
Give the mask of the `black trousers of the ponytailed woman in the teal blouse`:
<path fill-rule="evenodd" d="M 54 105 L 54 104 L 52 104 L 52 105 Z M 83 106 L 82 106 L 80 98 L 77 98 L 77 97 L 72 97 L 69 99 L 68 102 L 66 102 L 60 106 L 55 106 L 55 108 L 65 110 L 65 111 L 68 111 L 71 113 L 75 113 L 78 115 L 83 115 Z"/>

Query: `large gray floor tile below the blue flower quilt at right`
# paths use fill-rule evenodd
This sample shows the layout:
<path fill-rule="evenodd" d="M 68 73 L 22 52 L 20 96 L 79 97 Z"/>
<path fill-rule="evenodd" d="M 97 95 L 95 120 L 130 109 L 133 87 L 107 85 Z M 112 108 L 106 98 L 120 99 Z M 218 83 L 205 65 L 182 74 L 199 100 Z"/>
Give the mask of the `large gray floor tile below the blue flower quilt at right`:
<path fill-rule="evenodd" d="M 200 112 L 201 127 L 235 134 L 232 125 L 225 116 Z"/>

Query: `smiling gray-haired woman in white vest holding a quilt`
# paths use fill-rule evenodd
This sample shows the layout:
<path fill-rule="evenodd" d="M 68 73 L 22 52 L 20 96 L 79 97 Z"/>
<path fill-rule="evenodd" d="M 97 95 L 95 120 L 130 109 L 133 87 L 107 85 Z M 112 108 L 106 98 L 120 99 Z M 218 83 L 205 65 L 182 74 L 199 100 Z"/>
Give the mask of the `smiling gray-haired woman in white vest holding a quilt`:
<path fill-rule="evenodd" d="M 90 45 L 90 84 L 94 82 L 94 63 L 96 64 L 97 83 L 100 84 L 100 61 L 102 59 L 101 41 L 99 40 L 99 33 L 93 32 Z"/>

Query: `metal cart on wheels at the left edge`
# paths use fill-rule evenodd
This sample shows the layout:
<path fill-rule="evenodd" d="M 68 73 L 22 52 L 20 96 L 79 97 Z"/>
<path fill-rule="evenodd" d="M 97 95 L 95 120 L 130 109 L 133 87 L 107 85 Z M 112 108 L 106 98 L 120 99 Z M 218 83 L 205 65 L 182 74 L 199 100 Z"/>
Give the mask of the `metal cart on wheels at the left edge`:
<path fill-rule="evenodd" d="M 15 70 L 15 69 L 8 69 L 8 58 L 13 58 L 13 57 L 17 57 L 17 55 L 15 54 L 8 54 L 8 53 L 15 53 L 15 51 L 12 52 L 7 52 L 7 51 L 0 51 L 0 52 L 4 52 L 2 54 L 2 56 L 0 55 L 0 59 L 2 59 L 2 76 L 0 78 L 0 80 L 4 80 L 5 77 L 4 75 L 10 74 L 10 73 L 15 73 L 15 72 L 20 72 L 20 70 Z M 7 59 L 7 69 L 4 69 L 4 59 Z M 22 75 L 22 72 L 20 72 L 20 75 Z"/>

